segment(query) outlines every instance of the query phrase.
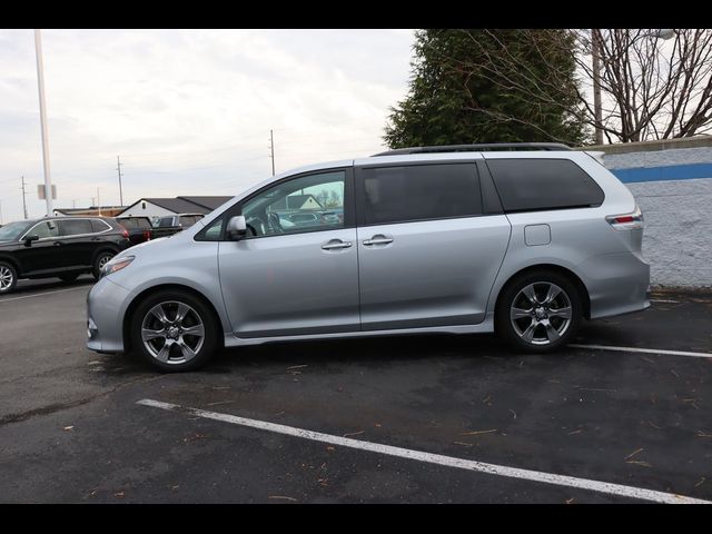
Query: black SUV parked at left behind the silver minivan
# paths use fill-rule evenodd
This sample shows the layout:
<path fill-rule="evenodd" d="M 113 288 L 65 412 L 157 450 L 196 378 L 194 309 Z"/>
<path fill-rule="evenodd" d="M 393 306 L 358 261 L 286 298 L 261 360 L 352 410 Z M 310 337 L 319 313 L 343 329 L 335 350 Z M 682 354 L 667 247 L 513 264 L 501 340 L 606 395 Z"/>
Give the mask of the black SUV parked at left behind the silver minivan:
<path fill-rule="evenodd" d="M 73 281 L 82 273 L 99 278 L 101 267 L 131 246 L 128 231 L 108 217 L 46 217 L 0 228 L 0 295 L 18 278 Z"/>

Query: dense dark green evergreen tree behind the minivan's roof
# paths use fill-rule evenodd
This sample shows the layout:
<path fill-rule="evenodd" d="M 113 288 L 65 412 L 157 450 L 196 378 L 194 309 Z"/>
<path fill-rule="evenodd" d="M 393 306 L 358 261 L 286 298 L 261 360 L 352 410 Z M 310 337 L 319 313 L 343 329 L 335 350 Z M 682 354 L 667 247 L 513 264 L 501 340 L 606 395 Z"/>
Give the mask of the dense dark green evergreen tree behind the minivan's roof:
<path fill-rule="evenodd" d="M 418 30 L 409 92 L 390 108 L 384 139 L 390 148 L 582 144 L 589 136 L 568 36 L 566 30 Z"/>

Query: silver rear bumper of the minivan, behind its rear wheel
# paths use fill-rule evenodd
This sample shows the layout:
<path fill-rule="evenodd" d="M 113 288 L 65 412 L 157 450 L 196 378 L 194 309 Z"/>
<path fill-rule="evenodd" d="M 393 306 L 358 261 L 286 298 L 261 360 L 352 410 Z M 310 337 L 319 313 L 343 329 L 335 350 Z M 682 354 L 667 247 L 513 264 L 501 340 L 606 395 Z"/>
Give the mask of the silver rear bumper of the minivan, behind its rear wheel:
<path fill-rule="evenodd" d="M 592 319 L 650 307 L 650 266 L 639 255 L 603 254 L 577 267 L 589 289 Z"/>

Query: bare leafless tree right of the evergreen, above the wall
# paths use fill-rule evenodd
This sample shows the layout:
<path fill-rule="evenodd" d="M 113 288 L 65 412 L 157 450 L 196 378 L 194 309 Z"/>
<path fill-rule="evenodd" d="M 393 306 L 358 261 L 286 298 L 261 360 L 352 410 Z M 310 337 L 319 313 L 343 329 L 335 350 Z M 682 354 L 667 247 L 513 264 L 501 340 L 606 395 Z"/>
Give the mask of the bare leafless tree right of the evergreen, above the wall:
<path fill-rule="evenodd" d="M 552 57 L 543 47 L 560 47 L 560 51 L 573 55 L 578 73 L 573 105 L 552 98 L 571 80 L 557 65 L 550 62 L 545 72 L 534 70 L 526 56 L 512 53 L 494 32 L 462 31 L 485 61 L 457 61 L 453 68 L 467 76 L 484 76 L 503 91 L 516 91 L 532 103 L 561 106 L 576 120 L 600 128 L 609 142 L 691 137 L 712 130 L 712 30 L 675 30 L 669 41 L 657 39 L 657 30 L 567 30 L 544 40 L 537 37 L 541 30 L 520 30 L 530 37 L 531 52 L 540 61 Z M 493 51 L 483 46 L 484 38 L 494 39 L 498 47 Z M 596 43 L 603 93 L 600 119 L 591 102 Z M 477 108 L 476 95 L 472 102 L 473 109 Z"/>

